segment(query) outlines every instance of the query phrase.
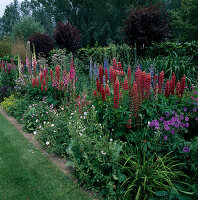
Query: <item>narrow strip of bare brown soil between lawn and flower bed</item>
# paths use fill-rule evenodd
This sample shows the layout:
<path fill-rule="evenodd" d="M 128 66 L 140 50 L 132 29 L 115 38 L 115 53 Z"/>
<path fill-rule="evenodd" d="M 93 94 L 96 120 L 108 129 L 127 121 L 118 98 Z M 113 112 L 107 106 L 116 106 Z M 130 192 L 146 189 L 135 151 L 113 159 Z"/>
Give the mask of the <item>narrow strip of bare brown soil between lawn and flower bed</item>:
<path fill-rule="evenodd" d="M 10 117 L 7 115 L 7 113 L 0 107 L 0 113 L 29 141 L 31 142 L 45 157 L 47 157 L 49 160 L 51 160 L 63 173 L 67 174 L 75 183 L 78 182 L 77 179 L 74 178 L 72 173 L 74 172 L 74 169 L 70 166 L 66 166 L 66 163 L 68 162 L 65 158 L 59 158 L 56 154 L 48 153 L 46 150 L 42 148 L 40 143 L 35 139 L 34 135 L 31 133 L 26 133 L 23 131 L 23 125 L 19 124 L 17 120 L 14 117 Z M 81 187 L 82 190 L 83 187 Z M 96 194 L 91 191 L 86 191 L 88 195 L 93 200 L 98 200 L 96 198 Z"/>

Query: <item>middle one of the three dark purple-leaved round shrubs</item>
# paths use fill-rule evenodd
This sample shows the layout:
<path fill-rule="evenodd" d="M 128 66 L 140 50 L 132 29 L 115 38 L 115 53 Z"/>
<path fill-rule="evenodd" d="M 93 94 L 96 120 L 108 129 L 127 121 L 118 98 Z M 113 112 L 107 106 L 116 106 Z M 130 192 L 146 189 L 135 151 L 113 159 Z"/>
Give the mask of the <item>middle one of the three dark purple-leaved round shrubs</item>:
<path fill-rule="evenodd" d="M 80 47 L 80 34 L 75 26 L 69 22 L 66 24 L 60 22 L 57 24 L 53 37 L 60 48 L 66 48 L 75 53 Z"/>

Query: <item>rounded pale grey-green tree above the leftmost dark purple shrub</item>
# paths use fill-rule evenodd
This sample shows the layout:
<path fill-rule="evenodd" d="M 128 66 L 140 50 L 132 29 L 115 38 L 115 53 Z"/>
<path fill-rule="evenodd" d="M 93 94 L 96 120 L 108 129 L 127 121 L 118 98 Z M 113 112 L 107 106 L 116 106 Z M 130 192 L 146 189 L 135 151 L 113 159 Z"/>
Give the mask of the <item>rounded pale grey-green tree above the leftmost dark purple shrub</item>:
<path fill-rule="evenodd" d="M 33 33 L 43 33 L 44 31 L 45 29 L 40 22 L 36 22 L 32 17 L 23 17 L 19 22 L 14 24 L 12 37 L 14 40 L 28 41 Z"/>

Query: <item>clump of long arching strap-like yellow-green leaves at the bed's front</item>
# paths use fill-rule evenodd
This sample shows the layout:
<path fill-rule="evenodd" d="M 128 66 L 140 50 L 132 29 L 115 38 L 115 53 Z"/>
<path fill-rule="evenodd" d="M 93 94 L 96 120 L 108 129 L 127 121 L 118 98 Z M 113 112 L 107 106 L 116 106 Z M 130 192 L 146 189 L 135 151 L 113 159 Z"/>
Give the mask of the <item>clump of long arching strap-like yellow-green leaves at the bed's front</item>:
<path fill-rule="evenodd" d="M 179 170 L 181 164 L 170 154 L 147 157 L 144 149 L 136 148 L 124 153 L 123 162 L 126 180 L 122 185 L 126 188 L 126 199 L 148 199 L 159 190 L 177 191 L 174 183 L 185 177 Z"/>

